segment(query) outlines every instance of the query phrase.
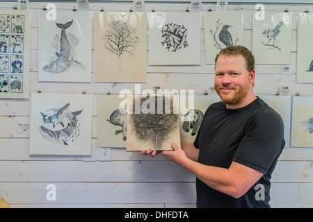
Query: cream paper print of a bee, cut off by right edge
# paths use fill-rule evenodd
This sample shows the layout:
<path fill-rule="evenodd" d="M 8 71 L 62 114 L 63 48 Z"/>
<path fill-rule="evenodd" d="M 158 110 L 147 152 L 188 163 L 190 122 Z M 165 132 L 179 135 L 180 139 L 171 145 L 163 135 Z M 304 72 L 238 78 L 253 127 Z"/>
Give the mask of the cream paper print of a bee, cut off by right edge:
<path fill-rule="evenodd" d="M 313 147 L 313 97 L 293 98 L 291 146 Z"/>

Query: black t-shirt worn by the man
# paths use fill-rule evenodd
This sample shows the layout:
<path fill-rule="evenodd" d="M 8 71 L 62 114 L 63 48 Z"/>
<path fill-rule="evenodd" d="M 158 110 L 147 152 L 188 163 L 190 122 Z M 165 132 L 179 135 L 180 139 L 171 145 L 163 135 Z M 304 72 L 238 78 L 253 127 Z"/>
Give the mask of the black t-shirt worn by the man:
<path fill-rule="evenodd" d="M 271 174 L 284 148 L 280 115 L 262 99 L 229 110 L 223 102 L 209 106 L 194 142 L 198 162 L 228 169 L 232 162 L 264 173 L 243 196 L 233 198 L 197 178 L 197 207 L 270 207 Z"/>

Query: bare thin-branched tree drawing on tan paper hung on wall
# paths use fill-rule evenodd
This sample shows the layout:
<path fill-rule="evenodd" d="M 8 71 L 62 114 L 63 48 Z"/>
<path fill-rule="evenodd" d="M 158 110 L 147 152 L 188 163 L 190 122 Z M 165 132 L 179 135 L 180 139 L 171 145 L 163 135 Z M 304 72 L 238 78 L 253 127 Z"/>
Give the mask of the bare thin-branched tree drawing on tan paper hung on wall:
<path fill-rule="evenodd" d="M 120 71 L 122 53 L 128 53 L 128 56 L 135 56 L 136 45 L 140 42 L 137 36 L 137 29 L 131 28 L 127 22 L 112 21 L 109 23 L 109 30 L 106 31 L 104 37 L 104 47 L 117 58 L 117 71 Z"/>

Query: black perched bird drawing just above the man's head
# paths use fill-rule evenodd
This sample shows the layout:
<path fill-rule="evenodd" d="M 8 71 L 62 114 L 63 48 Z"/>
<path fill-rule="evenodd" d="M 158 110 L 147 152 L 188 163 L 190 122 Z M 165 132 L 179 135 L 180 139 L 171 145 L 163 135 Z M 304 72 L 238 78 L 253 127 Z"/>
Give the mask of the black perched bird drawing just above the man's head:
<path fill-rule="evenodd" d="M 216 49 L 223 49 L 223 47 L 220 46 L 220 42 L 225 44 L 224 48 L 227 47 L 227 46 L 236 45 L 236 43 L 239 42 L 239 38 L 238 37 L 236 37 L 234 39 L 234 42 L 232 40 L 232 35 L 231 35 L 230 31 L 228 30 L 228 28 L 232 28 L 232 26 L 226 24 L 226 25 L 223 25 L 222 29 L 220 30 L 220 25 L 222 25 L 222 24 L 223 23 L 220 22 L 220 19 L 218 19 L 216 21 L 215 30 L 209 28 L 209 32 L 213 36 L 213 40 L 214 40 L 213 44 L 216 47 Z M 220 30 L 219 33 L 218 33 L 218 30 Z M 218 33 L 218 39 L 216 37 L 217 33 Z"/>

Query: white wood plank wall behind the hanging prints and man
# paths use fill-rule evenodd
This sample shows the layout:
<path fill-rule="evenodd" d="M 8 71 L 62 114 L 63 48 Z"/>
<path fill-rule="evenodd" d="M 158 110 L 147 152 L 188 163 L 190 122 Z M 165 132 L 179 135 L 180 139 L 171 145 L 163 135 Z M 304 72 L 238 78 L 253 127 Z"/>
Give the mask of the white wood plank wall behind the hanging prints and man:
<path fill-rule="evenodd" d="M 296 1 L 295 1 L 296 4 Z M 11 9 L 14 3 L 0 3 L 1 9 Z M 27 99 L 0 99 L 0 198 L 11 207 L 195 207 L 195 178 L 162 156 L 142 157 L 126 153 L 125 148 L 111 149 L 111 162 L 97 160 L 97 95 L 118 94 L 121 89 L 134 90 L 134 84 L 118 83 L 38 83 L 38 17 L 37 11 L 47 3 L 30 3 L 31 58 L 30 89 L 63 94 L 77 94 L 86 90 L 93 94 L 93 153 L 95 161 L 82 156 L 29 155 L 29 133 L 17 132 L 17 124 L 29 123 L 30 102 Z M 72 10 L 76 3 L 56 3 L 57 10 Z M 150 12 L 184 11 L 189 3 L 146 3 Z M 256 65 L 257 94 L 275 94 L 280 85 L 288 85 L 291 94 L 313 94 L 312 84 L 296 83 L 297 23 L 296 14 L 313 6 L 265 5 L 266 10 L 293 12 L 291 46 L 291 76 L 280 75 L 280 65 Z M 91 10 L 126 12 L 128 3 L 90 3 Z M 202 10 L 215 4 L 202 3 Z M 255 5 L 228 6 L 228 10 L 242 8 L 244 12 L 245 46 L 252 45 L 252 11 Z M 202 26 L 203 27 L 203 26 Z M 163 89 L 194 89 L 203 94 L 213 85 L 214 66 L 204 62 L 202 29 L 202 65 L 147 65 L 147 83 L 141 89 L 160 86 Z M 147 49 L 148 50 L 148 49 Z M 285 148 L 273 173 L 272 207 L 313 207 L 313 148 Z M 46 198 L 47 185 L 56 185 L 56 200 Z"/>

